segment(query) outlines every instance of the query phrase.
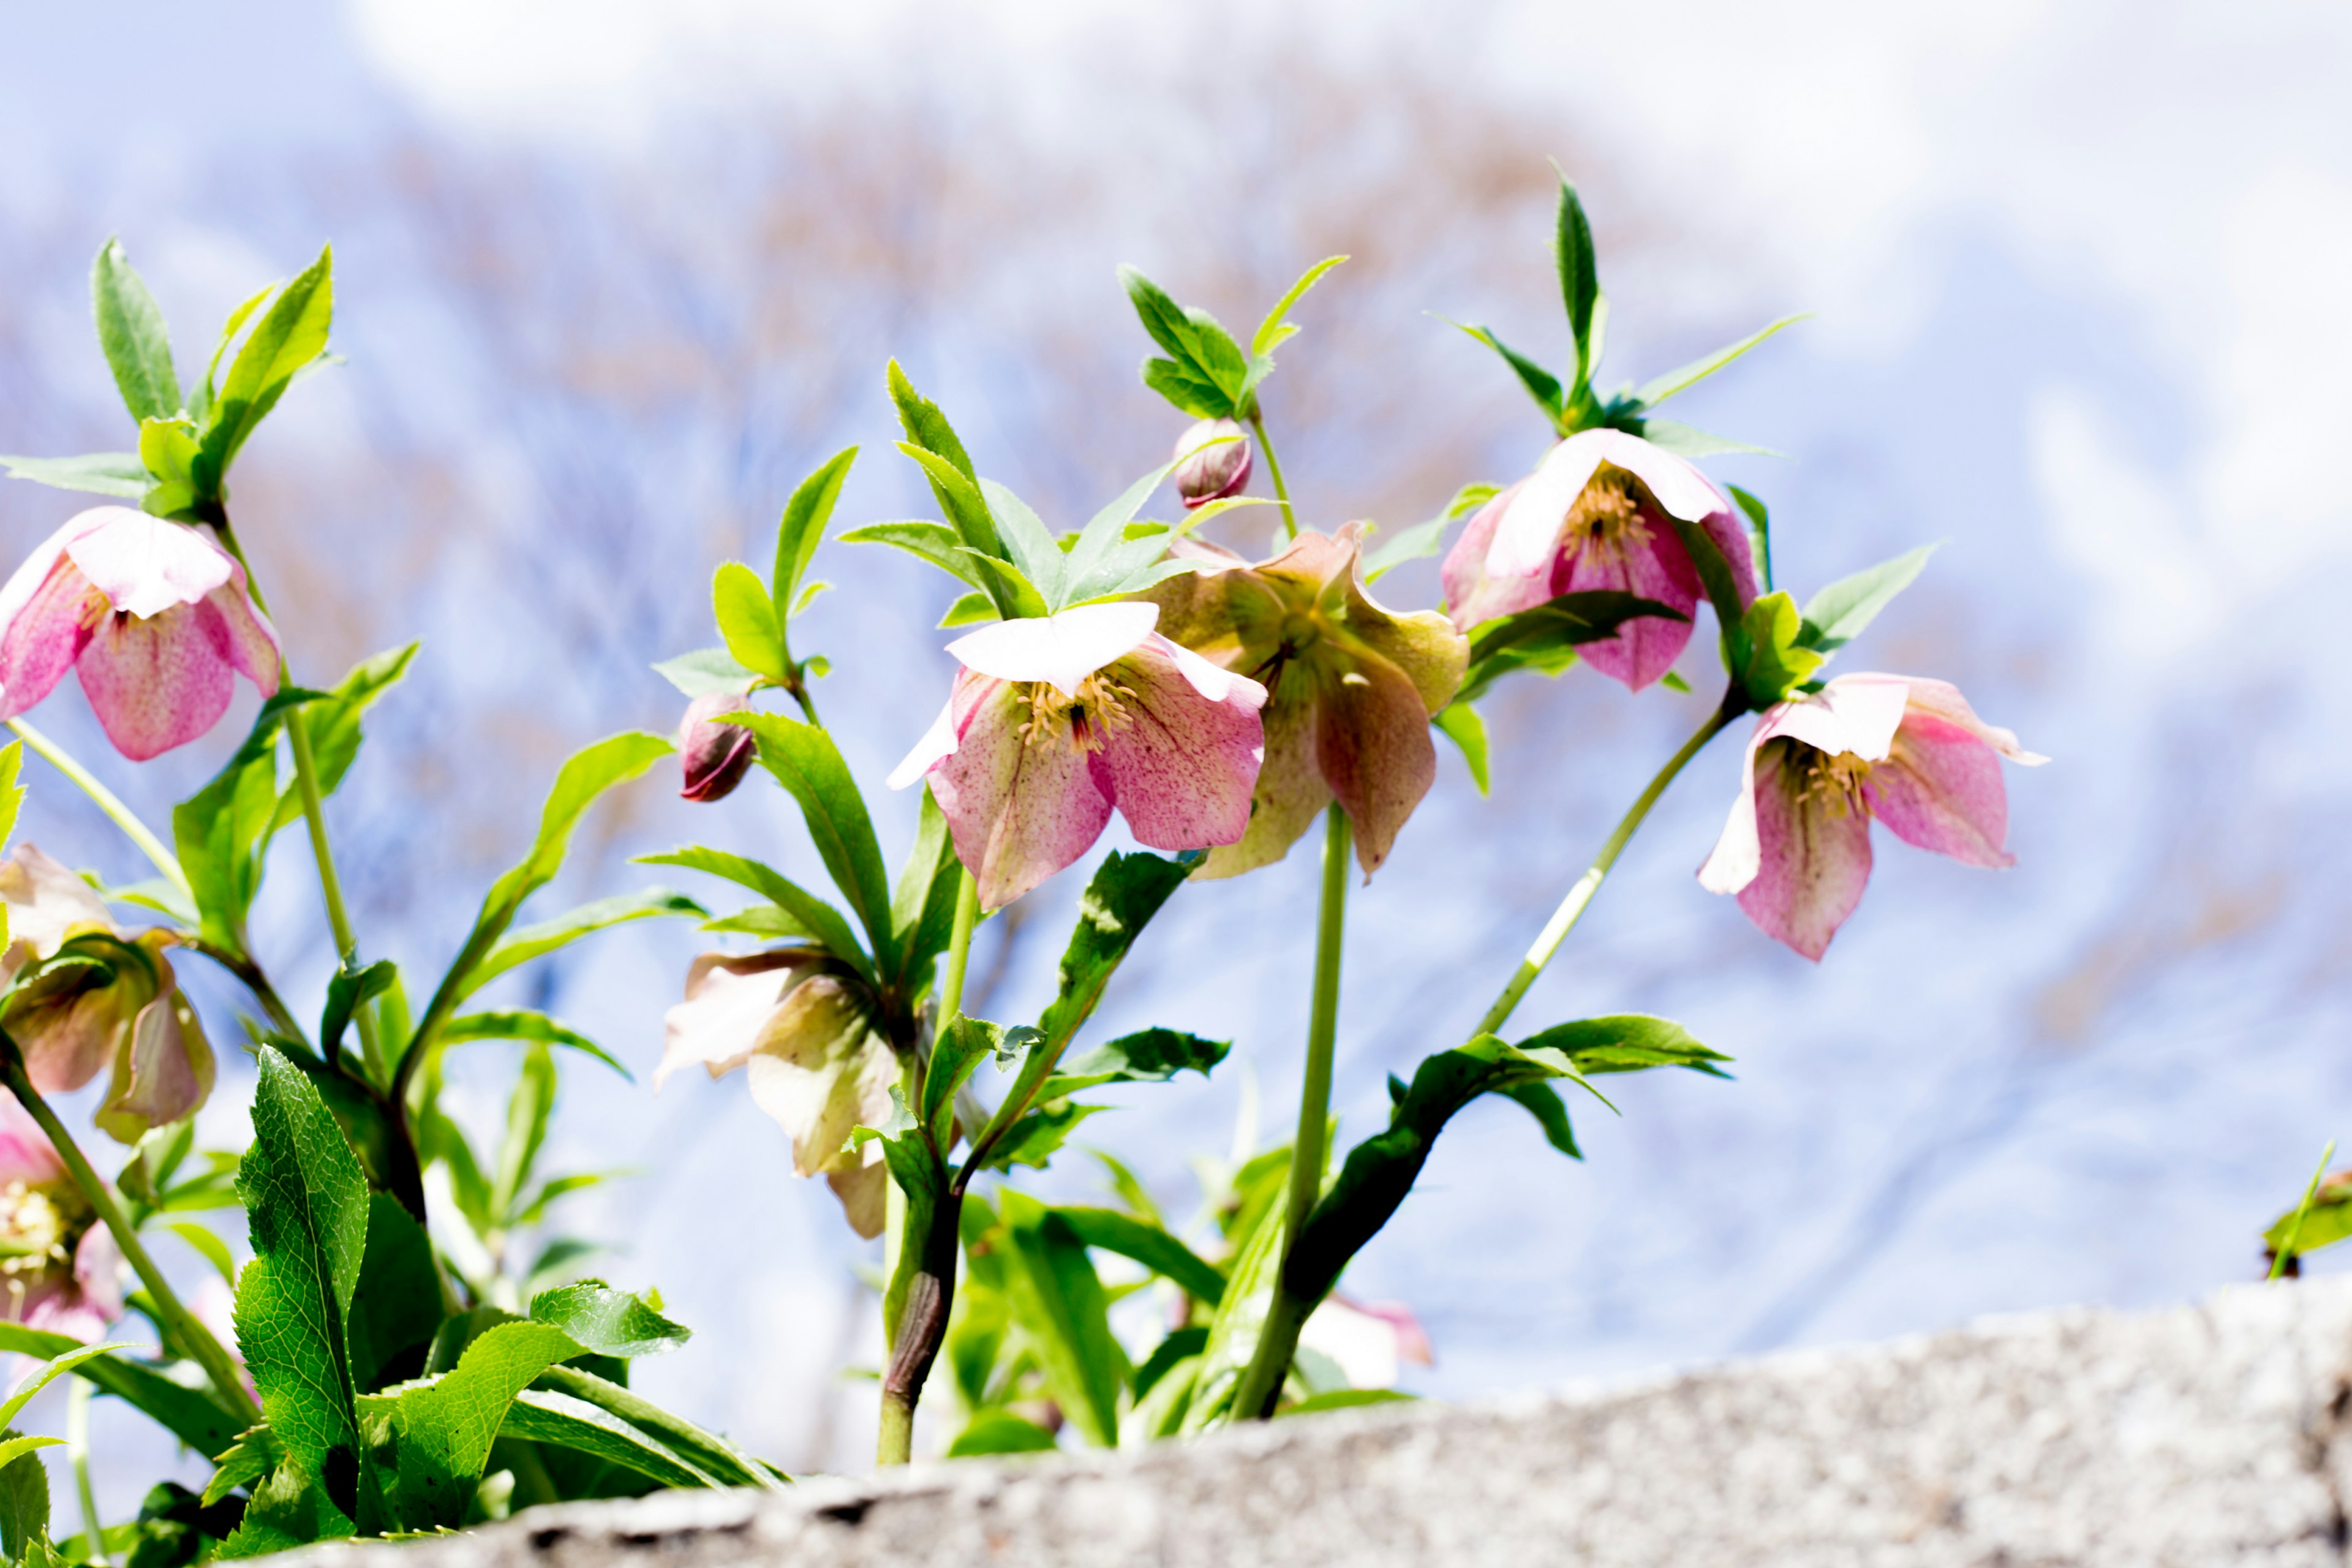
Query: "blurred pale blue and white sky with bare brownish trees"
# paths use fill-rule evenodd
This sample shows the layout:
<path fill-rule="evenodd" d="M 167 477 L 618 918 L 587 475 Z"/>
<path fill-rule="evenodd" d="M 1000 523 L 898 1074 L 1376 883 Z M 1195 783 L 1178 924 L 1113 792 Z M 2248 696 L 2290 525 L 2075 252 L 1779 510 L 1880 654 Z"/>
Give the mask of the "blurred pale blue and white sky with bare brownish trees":
<path fill-rule="evenodd" d="M 2056 762 L 2009 776 L 2013 872 L 1882 835 L 1872 891 L 1816 969 L 1691 879 L 1738 780 L 1738 745 L 1717 743 L 1519 1020 L 1668 1013 L 1738 1058 L 1738 1081 L 1621 1081 L 1623 1119 L 1576 1112 L 1581 1166 L 1512 1105 L 1465 1112 L 1348 1281 L 1428 1324 L 1437 1363 L 1409 1387 L 1477 1399 L 1983 1312 L 2190 1300 L 2260 1272 L 2260 1227 L 2352 1133 L 2352 693 L 2326 663 L 2352 564 L 2340 7 L 7 14 L 0 449 L 127 444 L 87 303 L 106 235 L 155 287 L 183 367 L 235 301 L 336 247 L 348 364 L 254 442 L 235 510 L 306 682 L 423 637 L 332 806 L 369 957 L 437 971 L 555 764 L 675 724 L 682 698 L 647 665 L 715 642 L 710 569 L 764 559 L 826 454 L 866 444 L 837 527 L 931 512 L 889 444 L 891 355 L 983 473 L 1075 527 L 1183 425 L 1136 378 L 1145 339 L 1115 263 L 1247 329 L 1305 263 L 1348 252 L 1265 395 L 1305 520 L 1395 529 L 1524 473 L 1541 418 L 1432 313 L 1566 355 L 1557 158 L 1597 223 L 1606 383 L 1811 310 L 1675 414 L 1788 454 L 1710 470 L 1771 501 L 1799 597 L 1945 541 L 1844 665 L 1950 677 Z M 78 508 L 0 484 L 0 552 Z M 816 574 L 840 588 L 795 639 L 830 656 L 818 701 L 877 785 L 946 689 L 931 625 L 955 588 L 849 545 Z M 1435 562 L 1381 592 L 1435 604 Z M 1463 1034 L 1703 712 L 1710 646 L 1684 663 L 1700 696 L 1588 672 L 1505 686 L 1491 799 L 1444 752 L 1352 903 L 1350 1138 L 1381 1124 L 1390 1070 Z M 240 689 L 214 736 L 141 769 L 71 682 L 35 719 L 165 820 L 249 712 Z M 28 776 L 24 837 L 143 875 L 47 764 Z M 880 811 L 896 856 L 913 802 Z M 256 940 L 315 1006 L 332 954 L 296 837 Z M 687 806 L 661 773 L 590 818 L 534 907 L 654 882 L 628 856 L 680 842 L 816 875 L 774 788 Z M 1251 1138 L 1251 1103 L 1265 1140 L 1287 1135 L 1312 882 L 1301 849 L 1185 891 L 1110 994 L 1103 1030 L 1237 1041 L 1216 1081 L 1136 1093 L 1087 1128 L 1178 1213 L 1190 1159 Z M 983 931 L 993 1016 L 1049 994 L 1080 884 Z M 548 1168 L 635 1175 L 560 1218 L 696 1328 L 642 1363 L 656 1399 L 793 1469 L 861 1467 L 873 1389 L 837 1368 L 880 1354 L 858 1284 L 877 1248 L 793 1180 L 739 1079 L 644 1086 L 708 940 L 626 926 L 515 983 L 637 1072 L 564 1063 Z M 198 969 L 181 964 L 233 1041 L 233 992 Z M 489 1131 L 513 1046 L 468 1051 L 449 1103 Z M 216 1140 L 238 1138 L 249 1086 L 230 1051 Z M 1091 1187 L 1087 1161 L 1063 1166 L 1044 1190 Z M 111 1401 L 96 1455 L 111 1514 L 172 1462 Z"/>

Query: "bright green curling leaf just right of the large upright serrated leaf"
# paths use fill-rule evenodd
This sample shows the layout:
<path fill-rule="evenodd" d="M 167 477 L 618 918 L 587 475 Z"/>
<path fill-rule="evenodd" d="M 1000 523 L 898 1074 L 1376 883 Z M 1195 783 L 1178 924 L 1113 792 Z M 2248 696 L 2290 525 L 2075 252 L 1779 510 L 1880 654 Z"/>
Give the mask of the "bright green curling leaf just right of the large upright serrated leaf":
<path fill-rule="evenodd" d="M 461 1526 L 515 1394 L 576 1354 L 581 1345 L 550 1324 L 499 1324 L 466 1347 L 456 1368 L 400 1389 L 393 1427 L 402 1526 Z"/>

